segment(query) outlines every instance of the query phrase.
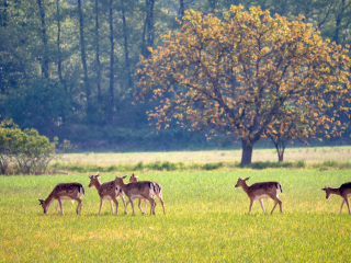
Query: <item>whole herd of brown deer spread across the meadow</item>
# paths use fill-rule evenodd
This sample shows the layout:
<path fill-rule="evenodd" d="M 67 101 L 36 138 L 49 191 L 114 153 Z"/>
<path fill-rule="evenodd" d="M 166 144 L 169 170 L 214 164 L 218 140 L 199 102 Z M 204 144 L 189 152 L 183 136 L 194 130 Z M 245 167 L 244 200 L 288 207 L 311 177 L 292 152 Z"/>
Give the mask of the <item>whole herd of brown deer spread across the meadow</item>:
<path fill-rule="evenodd" d="M 155 208 L 156 208 L 156 202 L 155 196 L 158 197 L 159 202 L 162 205 L 163 208 L 163 215 L 166 215 L 165 204 L 162 199 L 162 192 L 161 192 L 161 185 L 152 182 L 152 181 L 138 181 L 138 176 L 135 176 L 134 173 L 129 178 L 129 183 L 124 183 L 124 179 L 126 176 L 116 176 L 115 180 L 101 183 L 100 182 L 100 175 L 91 175 L 89 176 L 90 184 L 89 187 L 95 187 L 98 191 L 98 194 L 100 196 L 100 208 L 99 214 L 101 213 L 102 204 L 105 199 L 110 201 L 111 205 L 111 211 L 114 214 L 113 210 L 113 204 L 116 206 L 116 214 L 118 211 L 118 202 L 117 197 L 123 202 L 124 205 L 124 213 L 127 213 L 127 206 L 131 203 L 133 214 L 135 215 L 134 210 L 134 203 L 133 199 L 138 198 L 138 207 L 140 211 L 144 214 L 146 213 L 146 204 L 147 202 L 150 203 L 150 215 L 155 215 Z M 261 183 L 254 183 L 252 185 L 248 185 L 246 182 L 250 178 L 247 179 L 238 179 L 237 184 L 235 187 L 242 187 L 244 192 L 248 195 L 250 198 L 250 207 L 249 207 L 249 214 L 251 211 L 252 205 L 254 201 L 260 201 L 261 207 L 263 213 L 264 206 L 263 206 L 263 198 L 271 198 L 274 201 L 274 206 L 271 210 L 271 214 L 273 214 L 274 208 L 276 205 L 279 205 L 281 213 L 283 213 L 282 209 L 282 202 L 278 198 L 280 193 L 283 193 L 282 185 L 279 182 L 261 182 Z M 331 194 L 340 195 L 343 201 L 341 203 L 340 213 L 342 210 L 342 206 L 344 203 L 348 205 L 349 214 L 350 213 L 350 204 L 349 204 L 349 197 L 351 196 L 351 182 L 342 184 L 340 187 L 324 187 L 322 191 L 326 192 L 328 199 Z M 56 213 L 58 210 L 58 206 L 60 207 L 61 214 L 64 215 L 64 208 L 63 208 L 63 201 L 64 199 L 70 199 L 70 201 L 77 201 L 78 206 L 76 208 L 76 213 L 79 214 L 81 211 L 82 202 L 81 196 L 84 194 L 84 187 L 80 183 L 60 183 L 57 184 L 52 193 L 48 195 L 48 197 L 44 199 L 39 199 L 39 205 L 43 207 L 44 213 L 46 214 L 50 204 L 53 201 L 57 199 L 57 206 L 56 206 Z M 124 201 L 124 195 L 128 197 L 127 203 Z M 141 202 L 144 203 L 144 210 L 141 208 Z"/>

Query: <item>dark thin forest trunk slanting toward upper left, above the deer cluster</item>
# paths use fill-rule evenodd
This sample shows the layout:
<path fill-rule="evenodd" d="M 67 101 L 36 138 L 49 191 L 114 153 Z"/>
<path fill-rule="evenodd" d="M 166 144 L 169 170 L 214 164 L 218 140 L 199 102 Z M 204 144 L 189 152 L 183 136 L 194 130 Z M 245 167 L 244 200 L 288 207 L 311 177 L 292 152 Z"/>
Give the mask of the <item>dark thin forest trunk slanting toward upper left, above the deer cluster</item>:
<path fill-rule="evenodd" d="M 86 42 L 84 42 L 84 23 L 83 23 L 83 12 L 81 9 L 81 0 L 78 0 L 78 13 L 79 13 L 79 32 L 80 32 L 80 55 L 81 55 L 81 64 L 83 66 L 83 82 L 86 87 L 86 95 L 87 95 L 87 116 L 88 118 L 91 116 L 91 91 L 89 85 L 88 78 L 88 68 L 87 68 L 87 56 L 86 56 Z"/>

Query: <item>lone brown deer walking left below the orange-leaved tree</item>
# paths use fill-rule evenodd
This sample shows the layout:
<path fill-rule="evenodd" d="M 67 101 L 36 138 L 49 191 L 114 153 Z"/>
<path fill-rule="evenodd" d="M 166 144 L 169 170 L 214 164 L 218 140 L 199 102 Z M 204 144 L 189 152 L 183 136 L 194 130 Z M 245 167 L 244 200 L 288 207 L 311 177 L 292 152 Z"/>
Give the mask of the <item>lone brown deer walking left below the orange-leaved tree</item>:
<path fill-rule="evenodd" d="M 262 201 L 263 198 L 272 198 L 275 202 L 271 214 L 273 214 L 273 210 L 278 204 L 281 208 L 281 213 L 283 213 L 282 202 L 278 198 L 279 193 L 283 193 L 282 185 L 278 182 L 262 182 L 262 183 L 254 183 L 251 186 L 248 186 L 246 181 L 248 181 L 249 179 L 250 178 L 247 178 L 247 179 L 239 178 L 237 184 L 235 185 L 235 187 L 242 187 L 245 193 L 247 193 L 247 195 L 249 196 L 250 198 L 249 214 L 251 211 L 253 202 L 257 199 L 260 201 L 263 213 L 265 213 L 263 201 Z"/>

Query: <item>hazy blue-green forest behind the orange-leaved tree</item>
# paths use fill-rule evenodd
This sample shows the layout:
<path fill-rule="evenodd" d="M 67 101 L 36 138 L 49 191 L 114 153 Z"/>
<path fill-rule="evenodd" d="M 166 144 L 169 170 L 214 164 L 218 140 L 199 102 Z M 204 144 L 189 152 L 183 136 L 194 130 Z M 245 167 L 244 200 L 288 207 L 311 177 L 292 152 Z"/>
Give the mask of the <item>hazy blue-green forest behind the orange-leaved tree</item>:
<path fill-rule="evenodd" d="M 181 149 L 215 146 L 178 126 L 151 134 L 134 105 L 139 56 L 180 27 L 190 9 L 220 18 L 231 4 L 305 15 L 325 38 L 351 43 L 351 0 L 0 0 L 0 115 L 80 147 Z"/>

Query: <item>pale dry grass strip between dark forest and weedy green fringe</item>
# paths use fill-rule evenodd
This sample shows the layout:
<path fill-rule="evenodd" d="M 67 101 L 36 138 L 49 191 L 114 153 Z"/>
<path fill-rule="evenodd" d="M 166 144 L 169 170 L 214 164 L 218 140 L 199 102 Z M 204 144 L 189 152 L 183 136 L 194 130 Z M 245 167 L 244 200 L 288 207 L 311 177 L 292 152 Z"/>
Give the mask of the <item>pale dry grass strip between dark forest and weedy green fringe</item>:
<path fill-rule="evenodd" d="M 69 153 L 65 158 L 68 163 L 94 163 L 97 165 L 136 164 L 138 162 L 239 162 L 241 149 L 237 150 L 204 150 L 204 151 L 165 151 L 165 152 L 83 152 Z M 290 147 L 285 149 L 284 161 L 304 160 L 307 163 L 338 160 L 351 161 L 351 146 L 338 147 Z M 252 162 L 276 162 L 275 148 L 253 149 Z"/>

